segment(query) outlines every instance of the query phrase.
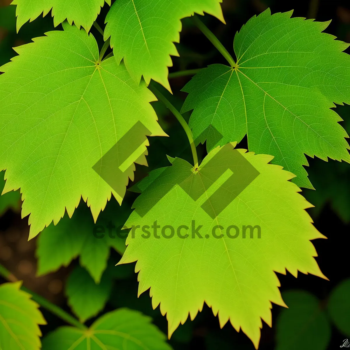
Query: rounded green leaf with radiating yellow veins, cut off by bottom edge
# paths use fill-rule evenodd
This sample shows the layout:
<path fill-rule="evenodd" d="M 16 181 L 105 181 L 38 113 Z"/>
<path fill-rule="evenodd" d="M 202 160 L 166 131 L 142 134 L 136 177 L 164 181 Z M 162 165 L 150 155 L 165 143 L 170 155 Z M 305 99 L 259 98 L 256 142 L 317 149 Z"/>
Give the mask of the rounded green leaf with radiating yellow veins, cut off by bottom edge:
<path fill-rule="evenodd" d="M 171 350 L 150 317 L 128 309 L 105 314 L 86 331 L 61 327 L 43 339 L 43 350 L 69 349 Z"/>

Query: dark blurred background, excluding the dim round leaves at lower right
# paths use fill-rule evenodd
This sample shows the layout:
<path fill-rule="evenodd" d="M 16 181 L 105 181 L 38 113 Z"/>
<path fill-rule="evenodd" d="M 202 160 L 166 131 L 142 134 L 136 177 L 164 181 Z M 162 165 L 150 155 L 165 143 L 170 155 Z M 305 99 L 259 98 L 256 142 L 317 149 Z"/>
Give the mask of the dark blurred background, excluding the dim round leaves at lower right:
<path fill-rule="evenodd" d="M 12 47 L 28 43 L 31 38 L 42 36 L 46 31 L 54 29 L 50 14 L 45 18 L 38 18 L 33 23 L 26 23 L 16 34 L 15 30 L 15 7 L 7 7 L 7 0 L 0 0 L 0 64 L 10 60 L 16 53 Z M 226 25 L 217 19 L 206 15 L 203 21 L 215 33 L 219 40 L 233 55 L 233 37 L 237 30 L 251 18 L 267 7 L 271 12 L 285 12 L 294 9 L 293 16 L 316 18 L 317 21 L 332 20 L 327 33 L 333 34 L 339 40 L 350 42 L 350 3 L 349 0 L 224 0 L 223 12 Z M 98 18 L 103 26 L 104 18 L 109 9 L 105 5 Z M 203 68 L 212 63 L 226 64 L 225 59 L 217 52 L 203 34 L 193 25 L 191 19 L 182 21 L 183 30 L 181 43 L 177 44 L 180 57 L 174 57 L 174 66 L 170 72 L 185 69 Z M 57 29 L 61 29 L 61 25 Z M 93 35 L 102 45 L 103 41 L 95 28 Z M 347 50 L 350 53 L 349 49 Z M 170 80 L 174 96 L 167 94 L 173 104 L 180 109 L 186 94 L 180 90 L 188 82 L 190 77 L 181 77 Z M 166 92 L 165 92 L 166 93 Z M 149 168 L 159 168 L 169 165 L 166 154 L 170 156 L 182 156 L 191 161 L 186 134 L 176 119 L 160 103 L 154 103 L 154 108 L 160 119 L 160 124 L 170 136 L 169 138 L 152 138 L 147 157 Z M 350 107 L 340 106 L 337 112 L 341 114 L 344 122 L 342 125 L 350 133 Z M 185 115 L 189 118 L 189 114 Z M 240 148 L 247 148 L 246 139 L 240 142 Z M 205 147 L 200 145 L 198 155 L 205 156 Z M 310 180 L 316 191 L 303 190 L 302 194 L 313 203 L 316 208 L 310 209 L 309 213 L 315 221 L 315 226 L 326 237 L 315 240 L 313 243 L 318 252 L 317 262 L 322 272 L 329 281 L 317 278 L 313 275 L 299 274 L 295 279 L 287 272 L 287 275 L 278 274 L 281 281 L 281 292 L 291 289 L 306 290 L 320 299 L 320 308 L 324 307 L 330 291 L 339 282 L 350 277 L 349 273 L 349 221 L 350 221 L 350 165 L 335 161 L 323 162 L 319 159 L 308 159 L 310 168 Z M 138 166 L 135 180 L 146 176 L 149 168 Z M 128 192 L 125 201 L 132 204 L 135 194 Z M 0 217 L 0 262 L 10 271 L 24 280 L 24 285 L 31 290 L 47 297 L 69 311 L 64 296 L 64 284 L 73 266 L 78 264 L 75 260 L 68 268 L 61 268 L 56 273 L 51 273 L 40 278 L 35 277 L 36 239 L 27 242 L 28 218 L 21 219 L 20 213 L 11 210 Z M 91 232 L 92 234 L 92 232 Z M 111 262 L 118 260 L 118 253 L 112 252 Z M 130 270 L 130 269 L 129 269 Z M 0 279 L 0 282 L 3 280 Z M 129 273 L 127 278 L 117 280 L 114 283 L 113 292 L 104 311 L 113 310 L 116 307 L 129 307 L 138 309 L 153 317 L 154 323 L 167 333 L 167 321 L 159 311 L 152 309 L 151 299 L 148 293 L 137 298 L 137 275 Z M 230 297 L 228 295 L 228 297 Z M 350 296 L 349 296 L 350 297 Z M 273 349 L 275 346 L 275 324 L 281 307 L 274 305 L 272 309 L 273 327 L 270 328 L 263 322 L 261 331 L 260 350 Z M 48 325 L 42 326 L 43 335 L 55 329 L 63 322 L 43 310 Z M 93 321 L 90 320 L 88 323 Z M 306 330 L 307 331 L 307 330 Z M 335 326 L 332 326 L 331 341 L 328 349 L 338 348 L 346 338 Z M 193 322 L 187 321 L 180 325 L 170 340 L 174 349 L 253 349 L 251 341 L 242 333 L 237 333 L 231 326 L 226 324 L 220 330 L 217 317 L 211 309 L 204 306 L 201 313 Z M 292 348 L 290 348 L 292 349 Z M 310 348 L 313 349 L 313 348 Z"/>

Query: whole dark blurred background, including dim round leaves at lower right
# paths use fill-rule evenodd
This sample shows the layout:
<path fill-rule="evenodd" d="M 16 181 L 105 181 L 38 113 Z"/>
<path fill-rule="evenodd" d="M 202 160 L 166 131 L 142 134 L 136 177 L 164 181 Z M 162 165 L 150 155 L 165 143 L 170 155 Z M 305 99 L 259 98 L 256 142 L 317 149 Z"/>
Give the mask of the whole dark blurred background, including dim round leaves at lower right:
<path fill-rule="evenodd" d="M 0 65 L 9 62 L 16 55 L 13 47 L 28 43 L 31 38 L 55 29 L 49 13 L 45 18 L 39 17 L 32 23 L 26 23 L 17 34 L 15 6 L 10 6 L 9 3 L 8 0 L 0 0 Z M 205 15 L 203 21 L 233 55 L 233 37 L 236 31 L 253 15 L 267 7 L 271 8 L 272 13 L 294 9 L 293 16 L 316 18 L 317 21 L 332 20 L 325 31 L 337 36 L 339 40 L 350 42 L 349 0 L 223 0 L 222 8 L 227 24 L 224 25 L 210 15 Z M 108 9 L 109 6 L 105 4 L 98 17 L 102 28 Z M 181 42 L 176 44 L 180 57 L 173 57 L 174 66 L 170 72 L 203 68 L 212 63 L 226 64 L 225 59 L 193 25 L 191 19 L 182 20 L 182 24 Z M 61 30 L 61 25 L 56 29 Z M 97 30 L 92 28 L 91 32 L 99 45 L 102 45 L 102 37 Z M 350 54 L 349 49 L 346 52 Z M 189 79 L 190 76 L 170 80 L 173 96 L 163 91 L 179 110 L 186 98 L 186 94 L 180 90 Z M 191 153 L 186 147 L 186 134 L 180 124 L 160 103 L 153 103 L 153 106 L 161 126 L 170 138 L 151 138 L 147 157 L 149 168 L 137 166 L 135 181 L 146 176 L 149 170 L 168 166 L 166 155 L 191 160 Z M 341 124 L 350 133 L 350 106 L 337 106 L 336 111 L 344 119 Z M 189 114 L 184 117 L 188 120 Z M 247 148 L 246 139 L 240 142 L 239 148 Z M 198 146 L 198 149 L 200 158 L 203 158 L 205 145 Z M 308 212 L 314 219 L 316 228 L 328 237 L 327 240 L 318 239 L 313 243 L 319 255 L 316 260 L 329 281 L 302 273 L 297 279 L 289 273 L 278 274 L 280 290 L 289 309 L 273 306 L 273 327 L 270 328 L 263 322 L 259 346 L 261 350 L 335 349 L 343 344 L 344 339 L 350 338 L 350 164 L 331 160 L 324 162 L 316 158 L 309 158 L 308 161 L 310 167 L 307 171 L 316 191 L 303 190 L 302 194 L 315 205 Z M 0 191 L 4 185 L 3 177 L 4 172 L 0 172 Z M 21 219 L 20 194 L 12 192 L 6 196 L 6 201 L 0 197 L 0 263 L 19 279 L 23 279 L 27 288 L 70 312 L 66 283 L 70 274 L 81 268 L 78 259 L 73 260 L 68 267 L 37 277 L 37 237 L 27 241 L 28 218 Z M 127 191 L 125 205 L 130 208 L 136 196 Z M 84 205 L 81 203 L 79 209 Z M 108 205 L 117 204 L 111 201 Z M 85 208 L 80 212 L 87 221 L 91 220 L 91 214 Z M 108 266 L 114 266 L 119 258 L 120 255 L 111 249 Z M 137 298 L 137 275 L 133 273 L 133 266 L 129 265 L 120 267 L 119 272 L 113 275 L 102 312 L 118 307 L 138 309 L 152 316 L 154 323 L 167 333 L 166 318 L 161 315 L 159 307 L 152 309 L 148 292 Z M 0 278 L 0 282 L 4 280 Z M 41 327 L 43 335 L 63 325 L 59 318 L 42 311 L 48 321 L 48 325 Z M 91 324 L 94 319 L 96 317 L 87 321 L 87 324 Z M 170 339 L 170 344 L 174 349 L 182 350 L 254 349 L 251 341 L 242 332 L 237 333 L 230 323 L 221 330 L 218 318 L 214 317 L 207 306 L 204 306 L 194 321 L 188 320 L 180 325 Z"/>

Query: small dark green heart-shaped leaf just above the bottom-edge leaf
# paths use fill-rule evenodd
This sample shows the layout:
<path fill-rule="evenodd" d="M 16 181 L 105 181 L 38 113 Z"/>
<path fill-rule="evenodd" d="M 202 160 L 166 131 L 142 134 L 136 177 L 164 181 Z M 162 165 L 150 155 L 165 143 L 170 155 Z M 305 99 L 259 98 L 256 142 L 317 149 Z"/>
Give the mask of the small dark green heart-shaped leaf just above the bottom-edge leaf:
<path fill-rule="evenodd" d="M 99 284 L 96 284 L 89 273 L 80 266 L 77 266 L 68 277 L 66 284 L 68 304 L 82 323 L 96 316 L 109 299 L 112 279 L 106 272 Z"/>

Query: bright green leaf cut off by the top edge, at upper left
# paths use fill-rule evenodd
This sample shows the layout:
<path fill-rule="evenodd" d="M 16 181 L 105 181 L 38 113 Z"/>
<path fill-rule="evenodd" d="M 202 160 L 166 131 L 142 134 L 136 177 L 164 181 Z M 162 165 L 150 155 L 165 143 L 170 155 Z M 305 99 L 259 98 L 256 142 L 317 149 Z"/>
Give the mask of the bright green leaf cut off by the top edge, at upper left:
<path fill-rule="evenodd" d="M 105 1 L 111 5 L 111 0 L 13 0 L 12 5 L 17 5 L 17 31 L 27 21 L 34 21 L 41 13 L 46 16 L 51 9 L 55 27 L 67 19 L 70 25 L 74 22 L 78 28 L 81 26 L 89 31 Z"/>

